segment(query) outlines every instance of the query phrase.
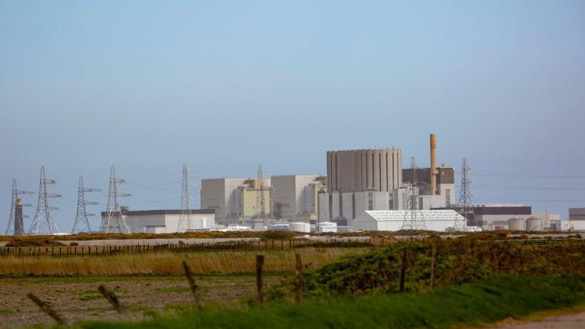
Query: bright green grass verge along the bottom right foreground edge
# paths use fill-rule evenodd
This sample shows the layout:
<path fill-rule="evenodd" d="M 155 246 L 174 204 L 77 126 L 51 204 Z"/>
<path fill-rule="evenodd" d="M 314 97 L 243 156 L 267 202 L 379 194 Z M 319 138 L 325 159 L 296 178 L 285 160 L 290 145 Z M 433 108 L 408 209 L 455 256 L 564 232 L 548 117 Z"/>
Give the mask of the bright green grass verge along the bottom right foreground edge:
<path fill-rule="evenodd" d="M 247 309 L 190 309 L 137 322 L 86 321 L 77 328 L 454 328 L 585 303 L 585 275 L 504 276 L 427 293 L 371 293 Z"/>

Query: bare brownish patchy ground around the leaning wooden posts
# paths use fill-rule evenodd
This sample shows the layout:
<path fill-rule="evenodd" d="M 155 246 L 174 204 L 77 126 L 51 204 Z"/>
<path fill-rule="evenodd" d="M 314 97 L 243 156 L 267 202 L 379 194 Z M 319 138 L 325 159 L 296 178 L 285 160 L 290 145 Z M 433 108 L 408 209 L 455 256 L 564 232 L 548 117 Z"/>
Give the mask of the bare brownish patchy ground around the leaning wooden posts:
<path fill-rule="evenodd" d="M 283 274 L 265 275 L 265 286 L 280 283 Z M 195 278 L 203 303 L 215 308 L 248 307 L 255 296 L 254 275 L 204 275 Z M 69 323 L 78 320 L 120 320 L 122 317 L 98 293 L 104 284 L 131 311 L 133 319 L 175 313 L 193 304 L 185 276 L 79 276 L 74 278 L 4 278 L 0 280 L 0 328 L 20 328 L 21 324 L 53 323 L 31 300 L 34 293 L 46 301 Z"/>

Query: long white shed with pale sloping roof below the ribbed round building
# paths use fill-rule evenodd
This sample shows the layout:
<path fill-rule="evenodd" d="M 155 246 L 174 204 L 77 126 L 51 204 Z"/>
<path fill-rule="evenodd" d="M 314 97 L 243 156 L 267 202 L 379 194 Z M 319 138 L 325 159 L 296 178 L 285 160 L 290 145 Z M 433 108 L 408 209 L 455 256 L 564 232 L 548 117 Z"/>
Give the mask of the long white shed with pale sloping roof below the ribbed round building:
<path fill-rule="evenodd" d="M 453 231 L 456 227 L 464 231 L 477 230 L 469 228 L 466 219 L 457 211 L 419 210 L 417 216 L 424 219 L 427 231 Z M 355 231 L 400 231 L 405 218 L 410 218 L 409 211 L 364 211 L 353 221 L 353 228 Z"/>

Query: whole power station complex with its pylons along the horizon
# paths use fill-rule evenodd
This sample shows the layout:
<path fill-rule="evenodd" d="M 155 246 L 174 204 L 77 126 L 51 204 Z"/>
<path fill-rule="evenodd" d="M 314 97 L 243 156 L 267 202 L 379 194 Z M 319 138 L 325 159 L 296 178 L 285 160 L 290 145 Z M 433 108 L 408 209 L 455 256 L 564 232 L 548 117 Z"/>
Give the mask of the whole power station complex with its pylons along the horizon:
<path fill-rule="evenodd" d="M 437 166 L 437 139 L 429 136 L 429 166 L 417 167 L 414 158 L 405 168 L 400 148 L 327 151 L 327 175 L 292 174 L 264 177 L 205 178 L 200 184 L 200 209 L 189 205 L 188 170 L 183 166 L 179 209 L 133 211 L 121 206 L 126 181 L 111 167 L 104 233 L 174 233 L 210 230 L 289 231 L 579 231 L 585 230 L 585 208 L 570 208 L 569 221 L 549 211 L 533 211 L 523 204 L 474 204 L 469 193 L 467 162 L 463 163 L 456 194 L 455 168 Z M 55 180 L 41 168 L 39 201 L 29 230 L 24 226 L 22 198 L 31 191 L 12 186 L 9 225 L 5 234 L 63 234 L 53 216 L 49 193 Z M 71 233 L 92 232 L 85 194 L 99 192 L 79 178 L 77 215 Z"/>

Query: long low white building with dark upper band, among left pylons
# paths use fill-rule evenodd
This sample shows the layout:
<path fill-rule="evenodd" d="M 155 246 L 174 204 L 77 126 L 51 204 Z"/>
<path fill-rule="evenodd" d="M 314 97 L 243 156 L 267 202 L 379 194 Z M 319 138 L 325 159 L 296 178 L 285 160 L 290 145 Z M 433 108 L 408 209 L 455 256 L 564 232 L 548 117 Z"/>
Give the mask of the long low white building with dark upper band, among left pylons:
<path fill-rule="evenodd" d="M 130 233 L 177 233 L 180 210 L 128 211 L 122 209 L 121 218 L 126 222 Z M 213 209 L 192 209 L 189 219 L 189 227 L 193 231 L 215 228 Z M 108 221 L 108 213 L 101 213 L 101 221 L 103 227 L 103 223 Z"/>

